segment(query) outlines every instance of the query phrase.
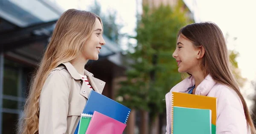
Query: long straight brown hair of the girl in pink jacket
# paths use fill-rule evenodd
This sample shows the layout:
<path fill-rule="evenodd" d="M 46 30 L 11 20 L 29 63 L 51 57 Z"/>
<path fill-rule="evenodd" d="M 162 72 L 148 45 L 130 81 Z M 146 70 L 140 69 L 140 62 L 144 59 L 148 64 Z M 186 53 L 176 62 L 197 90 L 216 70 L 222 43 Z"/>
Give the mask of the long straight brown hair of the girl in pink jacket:
<path fill-rule="evenodd" d="M 247 104 L 241 95 L 235 77 L 231 73 L 227 45 L 221 29 L 212 22 L 193 23 L 181 28 L 177 36 L 185 36 L 195 47 L 204 47 L 205 55 L 200 65 L 205 76 L 210 74 L 217 83 L 227 85 L 236 91 L 244 107 L 247 126 L 250 126 L 251 134 L 256 134 Z"/>

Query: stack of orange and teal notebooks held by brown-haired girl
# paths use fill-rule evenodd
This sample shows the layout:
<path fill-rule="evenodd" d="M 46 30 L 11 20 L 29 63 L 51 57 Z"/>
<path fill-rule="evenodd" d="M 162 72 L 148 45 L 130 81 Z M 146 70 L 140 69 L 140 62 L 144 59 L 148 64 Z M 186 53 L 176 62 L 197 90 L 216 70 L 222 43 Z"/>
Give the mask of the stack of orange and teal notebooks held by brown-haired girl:
<path fill-rule="evenodd" d="M 172 134 L 215 134 L 217 98 L 172 92 Z"/>

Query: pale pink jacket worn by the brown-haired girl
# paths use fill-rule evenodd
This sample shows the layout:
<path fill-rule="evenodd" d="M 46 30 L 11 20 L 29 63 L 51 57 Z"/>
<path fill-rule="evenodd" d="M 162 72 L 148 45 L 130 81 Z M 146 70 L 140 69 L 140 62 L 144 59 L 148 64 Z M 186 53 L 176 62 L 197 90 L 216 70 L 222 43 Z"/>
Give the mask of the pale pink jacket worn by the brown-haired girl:
<path fill-rule="evenodd" d="M 187 89 L 195 84 L 194 78 L 190 76 L 181 81 L 170 92 L 166 94 L 166 134 L 171 134 L 171 106 L 172 92 L 188 92 Z M 241 99 L 236 92 L 229 87 L 216 83 L 208 75 L 198 85 L 195 95 L 204 95 L 217 98 L 217 120 L 216 134 L 250 134 L 250 128 L 244 115 Z"/>

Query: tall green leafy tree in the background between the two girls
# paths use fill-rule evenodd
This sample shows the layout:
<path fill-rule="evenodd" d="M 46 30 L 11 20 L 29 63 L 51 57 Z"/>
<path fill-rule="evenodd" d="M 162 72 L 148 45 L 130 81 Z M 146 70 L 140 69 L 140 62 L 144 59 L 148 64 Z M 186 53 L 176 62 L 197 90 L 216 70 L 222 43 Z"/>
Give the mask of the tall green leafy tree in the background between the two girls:
<path fill-rule="evenodd" d="M 183 4 L 179 0 L 175 7 L 153 9 L 144 5 L 134 37 L 138 43 L 134 53 L 128 53 L 131 69 L 118 95 L 125 106 L 149 111 L 150 119 L 165 111 L 165 94 L 181 80 L 172 53 L 179 28 L 189 23 Z"/>

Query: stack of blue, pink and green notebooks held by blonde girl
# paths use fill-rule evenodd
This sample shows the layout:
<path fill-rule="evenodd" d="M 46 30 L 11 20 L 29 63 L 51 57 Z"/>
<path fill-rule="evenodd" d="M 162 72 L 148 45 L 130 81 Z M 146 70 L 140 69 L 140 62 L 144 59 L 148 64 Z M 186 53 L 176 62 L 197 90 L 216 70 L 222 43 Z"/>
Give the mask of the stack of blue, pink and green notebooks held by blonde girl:
<path fill-rule="evenodd" d="M 131 109 L 91 91 L 75 134 L 122 134 Z"/>

